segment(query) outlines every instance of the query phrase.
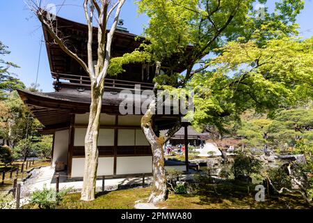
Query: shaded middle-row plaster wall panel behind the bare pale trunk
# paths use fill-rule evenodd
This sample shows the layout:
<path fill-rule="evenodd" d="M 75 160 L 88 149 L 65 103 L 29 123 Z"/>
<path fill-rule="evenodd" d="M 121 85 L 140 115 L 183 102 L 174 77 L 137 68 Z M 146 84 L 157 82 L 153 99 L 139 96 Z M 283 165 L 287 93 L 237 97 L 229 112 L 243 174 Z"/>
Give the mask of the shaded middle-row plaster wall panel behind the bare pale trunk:
<path fill-rule="evenodd" d="M 74 146 L 84 146 L 86 128 L 75 128 Z M 98 137 L 98 146 L 114 146 L 114 130 L 100 129 Z"/>

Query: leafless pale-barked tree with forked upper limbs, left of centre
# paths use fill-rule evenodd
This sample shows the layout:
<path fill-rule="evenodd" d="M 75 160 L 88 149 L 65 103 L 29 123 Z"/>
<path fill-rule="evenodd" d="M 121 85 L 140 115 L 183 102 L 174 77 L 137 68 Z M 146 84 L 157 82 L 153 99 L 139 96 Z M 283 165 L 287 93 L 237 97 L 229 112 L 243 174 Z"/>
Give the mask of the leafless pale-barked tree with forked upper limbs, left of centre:
<path fill-rule="evenodd" d="M 99 118 L 102 111 L 102 97 L 104 94 L 104 80 L 108 74 L 111 60 L 111 44 L 113 35 L 118 25 L 120 10 L 125 0 L 84 0 L 83 9 L 88 25 L 88 43 L 87 43 L 87 63 L 72 52 L 65 44 L 65 38 L 54 26 L 53 16 L 40 6 L 40 2 L 29 0 L 28 6 L 38 17 L 38 20 L 45 26 L 49 35 L 54 38 L 63 51 L 72 56 L 90 77 L 91 103 L 88 128 L 85 138 L 85 169 L 83 174 L 83 189 L 81 200 L 92 201 L 95 199 L 95 187 L 97 180 L 97 165 L 99 151 L 97 139 L 99 134 Z M 115 11 L 113 24 L 109 32 L 106 31 L 109 17 Z M 97 64 L 93 64 L 93 23 L 97 21 Z"/>

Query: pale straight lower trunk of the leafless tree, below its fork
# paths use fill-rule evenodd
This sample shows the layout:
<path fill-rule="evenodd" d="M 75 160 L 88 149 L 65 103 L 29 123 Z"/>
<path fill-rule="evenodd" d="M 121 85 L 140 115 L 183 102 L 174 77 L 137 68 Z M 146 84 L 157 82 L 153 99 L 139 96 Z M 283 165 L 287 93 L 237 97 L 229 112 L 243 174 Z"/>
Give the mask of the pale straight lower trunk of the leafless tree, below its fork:
<path fill-rule="evenodd" d="M 93 201 L 97 180 L 99 151 L 97 140 L 99 135 L 99 118 L 102 109 L 102 93 L 97 87 L 91 91 L 91 104 L 88 128 L 85 137 L 85 169 L 83 174 L 83 189 L 81 200 Z"/>

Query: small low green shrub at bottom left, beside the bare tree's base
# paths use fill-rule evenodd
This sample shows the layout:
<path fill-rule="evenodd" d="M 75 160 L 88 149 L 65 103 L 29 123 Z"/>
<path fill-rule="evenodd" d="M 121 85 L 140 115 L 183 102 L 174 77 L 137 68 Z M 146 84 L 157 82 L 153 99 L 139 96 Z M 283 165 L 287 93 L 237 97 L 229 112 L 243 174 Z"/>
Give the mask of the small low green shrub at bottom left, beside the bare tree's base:
<path fill-rule="evenodd" d="M 40 209 L 54 209 L 63 201 L 65 195 L 70 192 L 70 188 L 56 192 L 54 189 L 47 189 L 45 185 L 43 190 L 36 190 L 31 194 L 30 203 L 37 204 Z"/>

